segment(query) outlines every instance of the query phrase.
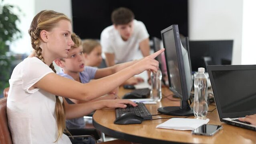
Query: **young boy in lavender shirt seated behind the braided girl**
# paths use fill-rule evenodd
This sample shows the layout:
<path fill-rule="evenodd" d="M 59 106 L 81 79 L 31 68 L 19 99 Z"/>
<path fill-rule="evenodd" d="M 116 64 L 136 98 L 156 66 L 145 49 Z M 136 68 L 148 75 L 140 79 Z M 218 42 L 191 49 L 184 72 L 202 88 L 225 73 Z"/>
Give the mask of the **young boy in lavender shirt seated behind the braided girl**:
<path fill-rule="evenodd" d="M 123 68 L 126 68 L 136 62 L 135 60 L 132 62 L 117 64 L 115 66 L 111 66 L 108 68 L 101 68 L 101 69 L 85 66 L 85 59 L 84 59 L 85 57 L 83 55 L 81 39 L 79 38 L 79 36 L 77 36 L 74 33 L 71 35 L 71 38 L 75 43 L 75 45 L 71 47 L 71 50 L 69 50 L 69 54 L 67 58 L 54 60 L 54 62 L 62 68 L 62 71 L 58 73 L 58 75 L 60 76 L 64 76 L 66 78 L 76 80 L 81 83 L 88 83 L 92 79 L 103 78 L 105 76 L 114 74 L 115 72 L 122 70 Z M 103 100 L 103 99 L 115 99 L 117 98 L 116 97 L 117 90 L 118 88 L 113 90 L 113 92 L 111 92 L 110 94 L 101 96 L 99 98 L 91 100 L 90 102 L 96 101 L 96 100 Z M 66 100 L 69 104 L 85 103 L 85 101 L 82 101 L 82 100 L 75 100 L 75 99 L 68 99 L 68 98 L 66 98 Z M 83 120 L 83 117 L 66 120 L 66 126 L 67 128 L 84 128 L 85 121 Z"/>

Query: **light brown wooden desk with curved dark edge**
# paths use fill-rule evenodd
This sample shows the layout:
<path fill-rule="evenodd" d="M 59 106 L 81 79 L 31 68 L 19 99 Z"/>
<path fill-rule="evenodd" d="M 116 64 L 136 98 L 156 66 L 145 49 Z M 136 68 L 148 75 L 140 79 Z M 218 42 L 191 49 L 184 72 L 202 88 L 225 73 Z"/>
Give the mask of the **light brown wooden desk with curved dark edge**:
<path fill-rule="evenodd" d="M 122 96 L 129 90 L 120 88 L 119 94 Z M 167 96 L 171 94 L 168 88 L 162 88 L 162 93 Z M 151 114 L 157 114 L 157 108 L 162 106 L 179 106 L 179 101 L 172 101 L 168 98 L 163 98 L 157 104 L 146 105 Z M 214 105 L 210 105 L 208 110 L 213 110 Z M 173 116 L 159 115 L 153 118 L 169 118 Z M 182 118 L 182 116 L 181 116 Z M 190 116 L 189 118 L 195 118 Z M 93 115 L 93 126 L 105 134 L 114 138 L 119 138 L 131 142 L 145 143 L 145 144 L 169 144 L 169 143 L 195 143 L 195 144 L 255 144 L 256 132 L 231 126 L 220 122 L 217 110 L 208 112 L 207 118 L 210 119 L 208 124 L 222 125 L 223 129 L 217 132 L 214 136 L 200 136 L 191 134 L 191 131 L 169 130 L 162 128 L 155 128 L 168 119 L 159 119 L 144 121 L 141 124 L 118 125 L 114 124 L 115 110 L 103 109 L 97 110 Z"/>

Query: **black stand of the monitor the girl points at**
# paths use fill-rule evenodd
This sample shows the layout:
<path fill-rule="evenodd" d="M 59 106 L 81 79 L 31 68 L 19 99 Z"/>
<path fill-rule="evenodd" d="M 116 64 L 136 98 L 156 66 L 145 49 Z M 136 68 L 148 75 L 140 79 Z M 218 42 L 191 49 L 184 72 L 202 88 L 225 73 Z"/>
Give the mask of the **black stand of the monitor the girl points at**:
<path fill-rule="evenodd" d="M 194 110 L 187 101 L 181 100 L 181 106 L 165 106 L 158 108 L 157 111 L 161 114 L 170 116 L 194 116 Z"/>

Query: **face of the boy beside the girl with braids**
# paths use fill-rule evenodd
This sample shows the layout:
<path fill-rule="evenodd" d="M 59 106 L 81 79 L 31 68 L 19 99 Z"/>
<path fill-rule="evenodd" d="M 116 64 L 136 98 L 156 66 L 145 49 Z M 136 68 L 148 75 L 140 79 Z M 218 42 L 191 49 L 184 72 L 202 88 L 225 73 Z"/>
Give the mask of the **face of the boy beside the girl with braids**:
<path fill-rule="evenodd" d="M 65 62 L 62 62 L 62 69 L 65 73 L 77 73 L 82 72 L 85 67 L 85 59 L 83 54 L 82 46 L 78 48 L 72 48 L 69 51 L 67 58 L 64 59 Z"/>

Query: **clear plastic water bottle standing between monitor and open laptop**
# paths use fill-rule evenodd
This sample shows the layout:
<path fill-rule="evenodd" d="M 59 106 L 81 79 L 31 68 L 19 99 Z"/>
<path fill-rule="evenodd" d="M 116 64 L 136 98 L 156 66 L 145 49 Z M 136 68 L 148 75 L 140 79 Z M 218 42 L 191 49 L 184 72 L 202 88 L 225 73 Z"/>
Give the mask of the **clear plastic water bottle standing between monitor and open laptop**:
<path fill-rule="evenodd" d="M 204 74 L 204 68 L 198 68 L 198 74 L 194 79 L 194 115 L 198 117 L 205 117 L 207 115 L 207 84 L 207 77 Z"/>

